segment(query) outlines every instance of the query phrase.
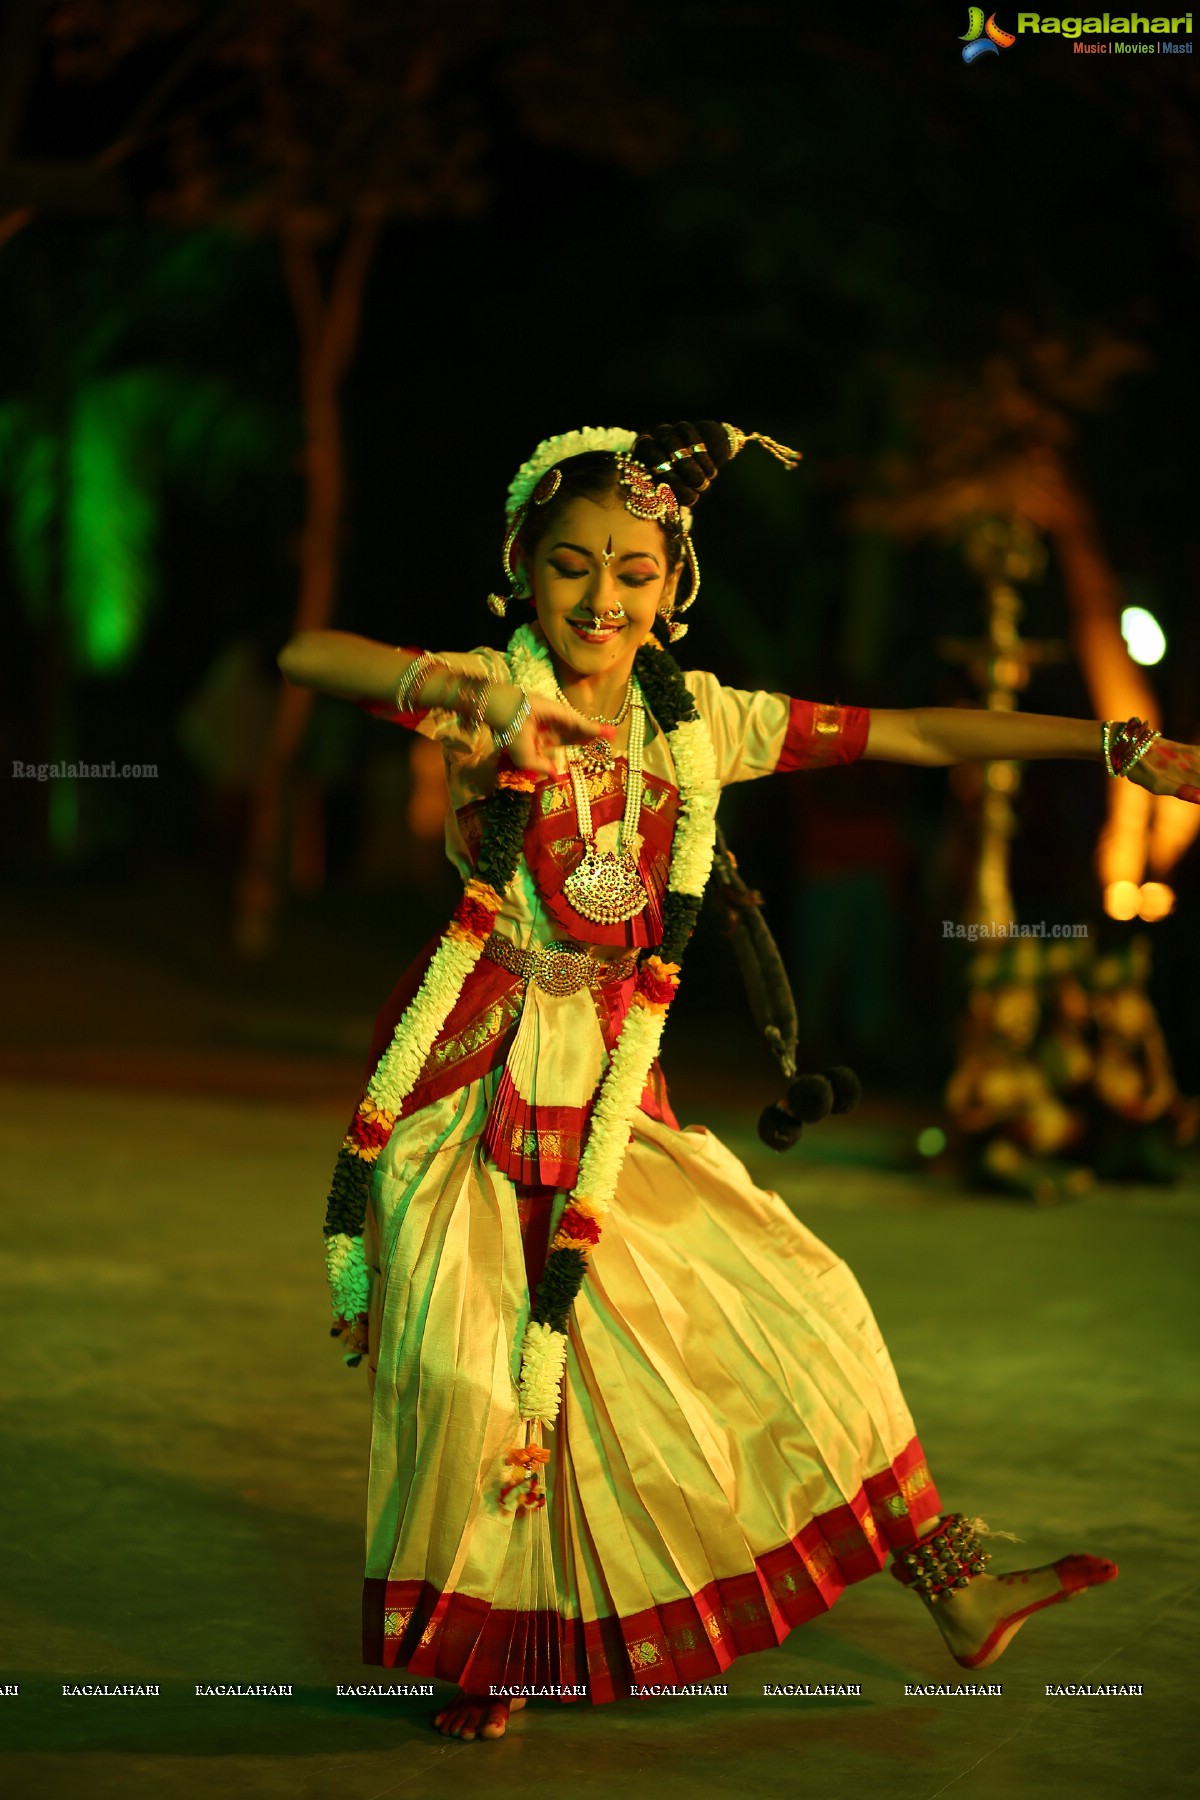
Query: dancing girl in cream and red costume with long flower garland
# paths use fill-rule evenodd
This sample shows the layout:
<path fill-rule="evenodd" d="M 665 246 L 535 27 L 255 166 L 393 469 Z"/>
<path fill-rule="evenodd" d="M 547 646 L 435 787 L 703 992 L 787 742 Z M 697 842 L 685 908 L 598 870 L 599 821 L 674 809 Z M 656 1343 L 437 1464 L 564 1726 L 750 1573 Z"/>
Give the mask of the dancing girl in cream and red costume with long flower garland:
<path fill-rule="evenodd" d="M 529 1696 L 720 1678 L 889 1553 L 968 1669 L 1117 1573 L 986 1573 L 993 1534 L 943 1514 L 855 1276 L 680 1130 L 657 1051 L 727 783 L 1072 756 L 1200 799 L 1200 752 L 1137 720 L 867 713 L 682 673 L 653 634 L 685 630 L 691 506 L 748 441 L 703 421 L 540 445 L 489 596 L 533 603 L 506 652 L 302 632 L 279 655 L 444 751 L 464 893 L 376 1022 L 326 1253 L 372 1397 L 363 1661 L 455 1681 L 435 1723 L 464 1739 Z"/>

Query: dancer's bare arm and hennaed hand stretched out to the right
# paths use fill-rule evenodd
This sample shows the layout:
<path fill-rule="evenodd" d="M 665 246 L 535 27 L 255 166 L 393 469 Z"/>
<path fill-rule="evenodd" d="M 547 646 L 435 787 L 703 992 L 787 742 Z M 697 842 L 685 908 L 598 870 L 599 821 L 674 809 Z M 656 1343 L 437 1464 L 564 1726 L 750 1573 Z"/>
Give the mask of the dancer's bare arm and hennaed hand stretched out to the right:
<path fill-rule="evenodd" d="M 993 713 L 986 707 L 918 706 L 871 709 L 864 756 L 882 763 L 945 767 L 975 761 L 1074 758 L 1105 761 L 1097 718 L 1056 718 L 1052 713 Z M 1157 738 L 1128 774 L 1151 794 L 1175 794 L 1200 805 L 1200 745 Z"/>

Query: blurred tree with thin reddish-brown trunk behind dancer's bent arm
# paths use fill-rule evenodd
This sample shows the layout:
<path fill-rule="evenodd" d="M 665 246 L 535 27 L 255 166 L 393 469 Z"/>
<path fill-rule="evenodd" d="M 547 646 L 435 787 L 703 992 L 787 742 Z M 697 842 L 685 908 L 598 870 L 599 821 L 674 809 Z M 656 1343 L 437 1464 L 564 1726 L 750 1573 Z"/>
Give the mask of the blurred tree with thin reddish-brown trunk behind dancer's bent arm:
<path fill-rule="evenodd" d="M 135 126 L 117 137 L 151 212 L 279 241 L 306 428 L 293 630 L 326 626 L 344 515 L 342 385 L 385 221 L 484 203 L 495 108 L 515 110 L 542 142 L 657 166 L 680 121 L 653 83 L 635 92 L 624 59 L 635 9 L 613 0 L 597 18 L 561 7 L 552 40 L 540 9 L 491 0 L 243 0 L 218 11 L 201 0 L 47 0 L 45 16 L 59 81 L 128 86 L 130 70 L 155 70 Z M 286 787 L 311 704 L 309 689 L 281 682 L 237 891 L 234 938 L 246 954 L 272 938 Z"/>

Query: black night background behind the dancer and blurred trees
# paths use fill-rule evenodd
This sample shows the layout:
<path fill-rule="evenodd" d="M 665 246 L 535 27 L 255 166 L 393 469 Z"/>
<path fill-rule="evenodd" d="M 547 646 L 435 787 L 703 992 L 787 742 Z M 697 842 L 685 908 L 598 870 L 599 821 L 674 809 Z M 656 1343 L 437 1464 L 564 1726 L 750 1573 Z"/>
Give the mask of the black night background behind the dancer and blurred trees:
<path fill-rule="evenodd" d="M 63 742 L 94 761 L 158 765 L 155 781 L 85 787 L 74 832 L 58 837 L 45 788 L 5 781 L 2 848 L 20 904 L 67 896 L 83 916 L 103 891 L 108 916 L 137 934 L 130 922 L 162 909 L 167 880 L 173 895 L 207 896 L 198 931 L 228 938 L 248 787 L 227 783 L 214 799 L 178 720 L 232 641 L 277 684 L 306 506 L 297 315 L 275 229 L 282 158 L 261 128 L 255 41 L 259 68 L 275 61 L 293 104 L 290 142 L 308 146 L 288 205 L 313 209 L 326 281 L 369 162 L 347 117 L 381 121 L 383 135 L 408 121 L 381 184 L 387 220 L 340 391 L 345 504 L 329 623 L 435 648 L 502 643 L 509 626 L 482 599 L 498 578 L 507 482 L 538 439 L 585 423 L 727 418 L 795 445 L 804 463 L 784 475 L 750 450 L 705 497 L 703 594 L 684 661 L 815 700 L 970 698 L 936 652 L 939 635 L 982 626 L 961 542 L 871 527 L 864 504 L 889 472 L 927 466 L 930 392 L 970 418 L 1000 358 L 1016 389 L 1031 382 L 1045 398 L 1025 380 L 1045 367 L 1036 346 L 1083 367 L 1088 346 L 1112 340 L 1141 367 L 1058 383 L 1056 454 L 1126 598 L 1166 630 L 1168 659 L 1150 671 L 1166 733 L 1200 738 L 1193 58 L 1081 56 L 1067 40 L 1022 36 L 968 67 L 964 11 L 617 4 L 551 20 L 525 7 L 252 5 L 239 13 L 252 50 L 230 65 L 221 9 L 193 54 L 203 32 L 185 4 L 16 7 L 13 20 L 36 16 L 25 40 L 36 43 L 20 81 L 9 59 L 4 202 L 9 218 L 32 216 L 0 247 L 0 418 L 32 405 L 61 423 L 88 382 L 133 369 L 182 373 L 201 394 L 207 383 L 212 414 L 178 441 L 144 439 L 153 569 L 135 641 L 110 668 L 79 648 L 77 621 L 32 592 L 20 472 L 11 436 L 0 439 L 5 769 Z M 378 38 L 354 40 L 335 81 L 338 14 L 351 40 L 371 18 Z M 389 47 L 401 16 L 403 43 Z M 419 79 L 392 81 L 414 68 Z M 164 81 L 146 124 L 108 155 Z M 982 468 L 993 454 L 995 437 Z M 1024 598 L 1027 634 L 1067 635 L 1052 542 Z M 1038 671 L 1025 704 L 1094 713 L 1074 662 Z M 56 738 L 47 720 L 63 706 L 68 736 L 59 718 Z M 363 837 L 378 828 L 367 769 L 389 731 L 317 702 L 299 767 L 324 796 L 324 868 L 291 889 L 284 877 L 277 936 L 257 959 L 295 954 L 290 922 L 327 925 L 306 970 L 290 970 L 317 990 L 362 947 L 347 938 L 365 936 L 374 1003 L 452 893 L 448 880 L 407 882 L 403 868 L 363 877 Z M 1101 923 L 1103 808 L 1096 765 L 1025 769 L 1022 918 L 1092 920 L 1115 940 L 1130 931 Z M 725 828 L 801 985 L 806 878 L 831 814 L 862 815 L 864 862 L 883 880 L 864 914 L 871 941 L 844 949 L 808 1048 L 934 1089 L 963 970 L 941 941 L 941 920 L 963 916 L 966 896 L 959 801 L 941 770 L 880 765 L 727 796 Z M 1186 1087 L 1200 1082 L 1196 866 L 1193 844 L 1171 871 L 1177 911 L 1151 931 Z M 856 961 L 882 994 L 865 1022 Z M 239 967 L 237 956 L 221 965 L 230 979 Z M 741 1004 L 712 932 L 693 968 L 680 1042 L 689 1021 L 703 1035 Z M 243 979 L 252 990 L 261 968 Z M 367 990 L 363 976 L 362 1004 Z"/>

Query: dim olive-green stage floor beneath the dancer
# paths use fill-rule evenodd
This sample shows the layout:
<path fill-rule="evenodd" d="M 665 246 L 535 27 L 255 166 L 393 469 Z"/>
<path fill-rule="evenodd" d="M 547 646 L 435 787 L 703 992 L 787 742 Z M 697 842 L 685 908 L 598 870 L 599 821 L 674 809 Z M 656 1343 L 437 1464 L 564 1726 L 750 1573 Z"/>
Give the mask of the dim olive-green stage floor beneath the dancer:
<path fill-rule="evenodd" d="M 31 1796 L 495 1793 L 1065 1800 L 1195 1793 L 1196 1226 L 1175 1188 L 1036 1210 L 905 1166 L 883 1112 L 761 1150 L 883 1327 L 946 1507 L 1121 1579 L 961 1670 L 887 1575 L 729 1670 L 729 1697 L 531 1705 L 498 1742 L 363 1669 L 367 1382 L 326 1336 L 326 1181 L 347 1105 L 0 1085 L 7 1318 L 4 1782 Z M 1002 1683 L 999 1697 L 905 1685 Z M 158 1697 L 65 1685 L 158 1683 Z M 198 1697 L 196 1685 L 291 1685 Z M 768 1683 L 862 1687 L 766 1697 Z M 1141 1685 L 1051 1697 L 1047 1685 Z"/>

